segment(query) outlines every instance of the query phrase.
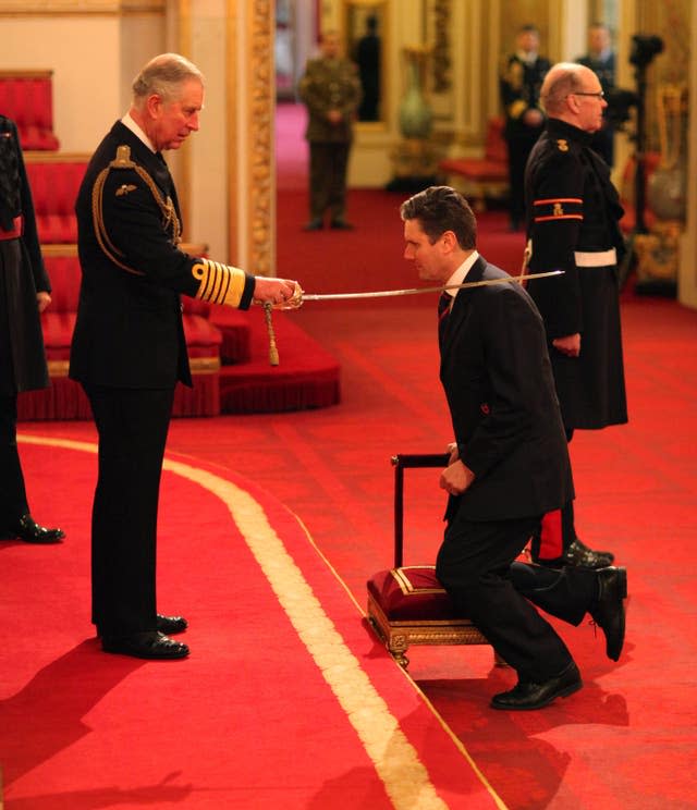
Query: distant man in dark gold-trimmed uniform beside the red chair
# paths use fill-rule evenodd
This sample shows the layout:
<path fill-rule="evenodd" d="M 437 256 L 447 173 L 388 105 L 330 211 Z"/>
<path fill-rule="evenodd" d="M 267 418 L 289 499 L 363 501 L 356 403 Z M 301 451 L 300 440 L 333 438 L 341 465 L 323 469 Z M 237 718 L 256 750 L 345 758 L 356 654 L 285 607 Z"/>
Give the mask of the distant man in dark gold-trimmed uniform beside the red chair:
<path fill-rule="evenodd" d="M 516 37 L 516 51 L 506 57 L 500 78 L 501 102 L 505 114 L 503 136 L 509 148 L 511 228 L 525 220 L 525 164 L 545 126 L 540 109 L 540 87 L 549 70 L 548 59 L 538 54 L 540 35 L 534 25 L 524 25 Z"/>

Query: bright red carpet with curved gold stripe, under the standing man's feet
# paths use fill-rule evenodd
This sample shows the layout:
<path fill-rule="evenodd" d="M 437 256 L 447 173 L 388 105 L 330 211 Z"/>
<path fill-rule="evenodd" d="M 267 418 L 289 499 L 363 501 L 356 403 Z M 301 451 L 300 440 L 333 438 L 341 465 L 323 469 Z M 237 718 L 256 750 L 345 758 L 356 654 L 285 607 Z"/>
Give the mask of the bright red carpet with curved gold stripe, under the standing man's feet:
<path fill-rule="evenodd" d="M 35 496 L 69 539 L 2 544 L 8 810 L 494 807 L 302 524 L 223 467 L 166 466 L 159 601 L 186 613 L 191 659 L 98 651 L 94 446 L 35 441 L 22 446 Z"/>

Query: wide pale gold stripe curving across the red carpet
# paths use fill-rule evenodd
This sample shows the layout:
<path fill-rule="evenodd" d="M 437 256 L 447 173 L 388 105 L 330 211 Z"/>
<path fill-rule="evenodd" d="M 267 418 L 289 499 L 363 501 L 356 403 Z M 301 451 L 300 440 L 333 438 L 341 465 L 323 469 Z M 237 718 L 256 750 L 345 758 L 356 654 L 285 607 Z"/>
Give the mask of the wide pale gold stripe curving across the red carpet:
<path fill-rule="evenodd" d="M 97 452 L 97 445 L 91 442 L 34 435 L 17 435 L 17 440 L 28 444 Z M 419 810 L 447 810 L 448 806 L 438 796 L 416 749 L 325 613 L 301 569 L 269 524 L 261 505 L 249 493 L 212 472 L 169 458 L 164 459 L 163 467 L 199 484 L 228 506 L 281 606 L 346 712 L 396 810 L 414 810 L 416 807 Z M 472 760 L 469 762 L 474 764 Z M 482 775 L 476 769 L 475 772 L 497 806 L 503 808 L 504 805 Z"/>

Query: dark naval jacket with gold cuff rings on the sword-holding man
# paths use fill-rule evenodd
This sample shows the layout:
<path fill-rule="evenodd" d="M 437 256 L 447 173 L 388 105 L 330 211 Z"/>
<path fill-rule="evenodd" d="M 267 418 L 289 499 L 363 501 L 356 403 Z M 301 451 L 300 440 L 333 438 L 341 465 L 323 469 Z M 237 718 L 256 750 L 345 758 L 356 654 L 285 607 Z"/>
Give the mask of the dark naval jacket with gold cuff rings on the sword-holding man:
<path fill-rule="evenodd" d="M 120 121 L 93 156 L 75 211 L 83 278 L 70 358 L 70 377 L 83 383 L 132 389 L 191 385 L 180 294 L 223 302 L 204 291 L 229 268 L 189 256 L 173 238 L 179 230 L 163 214 L 152 189 L 133 168 L 111 169 L 103 184 L 99 244 L 93 208 L 98 176 L 127 146 L 132 160 L 154 181 L 180 219 L 176 192 L 164 160 Z M 179 223 L 176 223 L 178 225 Z M 236 271 L 237 274 L 241 271 Z M 211 287 L 216 284 L 211 284 Z M 244 277 L 239 308 L 249 306 L 254 277 Z"/>

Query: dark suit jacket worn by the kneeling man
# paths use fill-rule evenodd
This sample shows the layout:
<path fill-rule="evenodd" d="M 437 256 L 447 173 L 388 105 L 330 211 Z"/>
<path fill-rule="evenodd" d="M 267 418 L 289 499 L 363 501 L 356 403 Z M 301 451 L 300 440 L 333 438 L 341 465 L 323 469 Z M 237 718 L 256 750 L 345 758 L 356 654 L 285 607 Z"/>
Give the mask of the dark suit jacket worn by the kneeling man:
<path fill-rule="evenodd" d="M 481 257 L 467 281 L 509 278 Z M 545 327 L 518 284 L 461 290 L 444 324 L 440 378 L 473 484 L 451 498 L 469 520 L 541 515 L 574 495 Z"/>

